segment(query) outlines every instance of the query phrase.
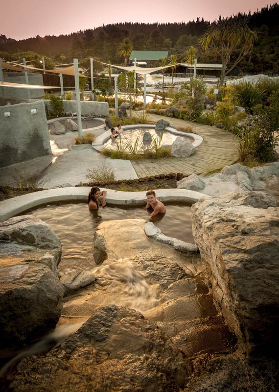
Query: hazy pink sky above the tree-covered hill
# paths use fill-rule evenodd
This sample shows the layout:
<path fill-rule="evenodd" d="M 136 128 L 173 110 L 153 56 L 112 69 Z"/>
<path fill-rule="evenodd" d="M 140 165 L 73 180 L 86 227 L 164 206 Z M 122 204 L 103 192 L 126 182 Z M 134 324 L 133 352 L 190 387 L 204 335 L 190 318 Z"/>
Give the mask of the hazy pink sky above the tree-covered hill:
<path fill-rule="evenodd" d="M 23 39 L 37 34 L 69 34 L 117 22 L 213 21 L 237 12 L 253 13 L 275 1 L 265 0 L 24 0 L 1 4 L 0 33 Z"/>

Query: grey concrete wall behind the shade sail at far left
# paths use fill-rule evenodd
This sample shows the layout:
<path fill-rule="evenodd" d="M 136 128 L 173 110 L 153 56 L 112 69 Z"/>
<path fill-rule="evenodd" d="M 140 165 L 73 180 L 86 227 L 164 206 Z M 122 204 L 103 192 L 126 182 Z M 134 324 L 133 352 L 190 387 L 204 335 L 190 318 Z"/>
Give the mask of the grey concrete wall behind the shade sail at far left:
<path fill-rule="evenodd" d="M 3 72 L 4 82 L 10 83 L 23 83 L 26 84 L 24 72 Z M 38 86 L 43 86 L 43 75 L 41 73 L 28 73 L 29 84 L 37 84 Z M 58 79 L 59 81 L 59 79 Z M 59 84 L 58 84 L 59 86 Z M 26 89 L 16 89 L 16 88 L 2 88 L 3 97 L 11 98 L 24 98 L 29 99 Z M 44 97 L 44 89 L 29 89 L 30 98 L 42 98 Z"/>

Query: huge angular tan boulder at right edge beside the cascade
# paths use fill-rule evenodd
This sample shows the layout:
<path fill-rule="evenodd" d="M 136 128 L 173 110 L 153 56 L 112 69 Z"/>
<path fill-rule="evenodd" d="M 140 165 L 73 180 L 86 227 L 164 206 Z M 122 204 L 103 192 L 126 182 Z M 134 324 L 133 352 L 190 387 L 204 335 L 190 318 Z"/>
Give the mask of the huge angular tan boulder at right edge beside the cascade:
<path fill-rule="evenodd" d="M 262 192 L 203 199 L 192 226 L 213 295 L 238 343 L 274 353 L 279 329 L 279 208 Z"/>

